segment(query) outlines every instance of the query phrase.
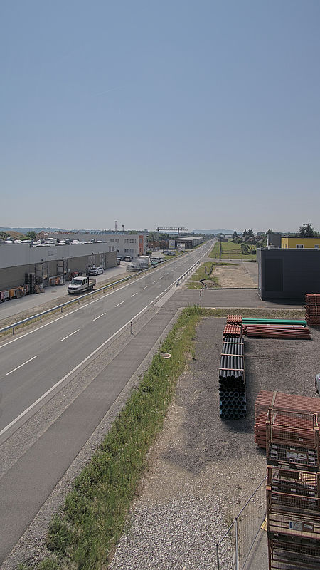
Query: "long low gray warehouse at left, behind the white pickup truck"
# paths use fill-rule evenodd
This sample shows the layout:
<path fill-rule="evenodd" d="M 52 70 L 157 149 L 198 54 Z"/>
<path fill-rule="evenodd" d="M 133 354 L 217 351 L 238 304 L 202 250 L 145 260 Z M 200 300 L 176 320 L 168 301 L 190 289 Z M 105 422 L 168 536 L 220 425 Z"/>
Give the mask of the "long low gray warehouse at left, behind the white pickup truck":
<path fill-rule="evenodd" d="M 41 245 L 0 244 L 0 300 L 63 284 L 74 274 L 86 274 L 92 266 L 104 269 L 117 265 L 117 252 L 105 243 Z M 20 293 L 12 293 L 21 287 Z M 11 291 L 8 292 L 8 291 Z"/>

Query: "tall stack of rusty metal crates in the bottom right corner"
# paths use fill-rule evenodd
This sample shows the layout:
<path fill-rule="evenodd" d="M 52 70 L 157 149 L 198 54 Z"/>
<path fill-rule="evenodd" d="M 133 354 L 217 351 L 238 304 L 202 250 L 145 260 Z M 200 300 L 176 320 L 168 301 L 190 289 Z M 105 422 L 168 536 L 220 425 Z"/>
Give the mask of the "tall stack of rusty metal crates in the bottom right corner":
<path fill-rule="evenodd" d="M 269 570 L 319 570 L 318 415 L 270 408 L 266 431 Z"/>

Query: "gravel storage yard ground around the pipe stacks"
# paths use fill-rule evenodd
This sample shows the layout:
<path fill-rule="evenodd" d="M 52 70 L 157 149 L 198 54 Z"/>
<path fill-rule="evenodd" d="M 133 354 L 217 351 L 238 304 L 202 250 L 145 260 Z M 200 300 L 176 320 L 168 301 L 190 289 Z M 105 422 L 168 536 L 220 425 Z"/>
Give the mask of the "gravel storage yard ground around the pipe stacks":
<path fill-rule="evenodd" d="M 146 552 L 157 560 L 158 569 L 216 569 L 215 543 L 265 477 L 265 452 L 256 447 L 253 435 L 257 393 L 279 390 L 316 397 L 314 376 L 320 371 L 319 329 L 311 330 L 311 341 L 245 338 L 247 417 L 221 421 L 218 368 L 224 324 L 225 318 L 203 318 L 198 325 L 195 359 L 189 361 L 178 381 L 164 430 L 149 453 L 149 470 L 132 508 L 129 531 L 124 533 L 114 556 L 112 570 L 155 567 L 152 561 L 151 566 L 146 560 L 141 564 Z M 168 556 L 172 553 L 164 548 L 163 540 L 161 549 L 156 546 L 160 541 L 154 533 L 159 534 L 163 524 L 168 536 L 173 509 L 181 509 L 181 517 L 187 517 L 186 509 L 181 508 L 182 496 L 188 497 L 189 509 L 195 508 L 194 504 L 201 505 L 201 498 L 206 497 L 206 510 L 197 513 L 200 518 L 208 517 L 210 504 L 216 505 L 210 512 L 208 539 L 201 537 L 203 557 L 197 563 L 201 566 L 190 562 L 190 553 L 197 548 L 194 527 L 184 566 L 182 562 L 170 566 Z M 156 530 L 151 522 L 155 512 Z M 175 513 L 173 527 L 181 524 L 178 518 Z M 182 524 L 181 541 L 184 541 L 183 527 L 188 528 L 187 522 Z M 171 532 L 174 536 L 176 528 Z M 263 544 L 251 561 L 250 570 L 267 570 L 267 567 L 267 549 Z"/>

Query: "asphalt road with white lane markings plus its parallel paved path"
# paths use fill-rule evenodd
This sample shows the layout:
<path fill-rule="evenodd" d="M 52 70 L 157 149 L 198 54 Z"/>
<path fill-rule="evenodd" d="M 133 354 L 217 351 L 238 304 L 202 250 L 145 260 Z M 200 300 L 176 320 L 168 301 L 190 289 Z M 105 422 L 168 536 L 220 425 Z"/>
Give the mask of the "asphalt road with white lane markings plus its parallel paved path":
<path fill-rule="evenodd" d="M 132 353 L 114 359 L 107 375 L 93 375 L 56 417 L 46 418 L 38 433 L 36 418 L 43 405 L 54 402 L 53 395 L 94 361 L 119 331 L 128 329 L 131 321 L 135 323 L 175 287 L 178 276 L 207 249 L 205 244 L 122 289 L 1 343 L 0 564 L 159 338 L 170 316 L 164 315 L 163 322 L 142 329 L 130 343 Z M 30 418 L 36 427 L 23 440 Z"/>

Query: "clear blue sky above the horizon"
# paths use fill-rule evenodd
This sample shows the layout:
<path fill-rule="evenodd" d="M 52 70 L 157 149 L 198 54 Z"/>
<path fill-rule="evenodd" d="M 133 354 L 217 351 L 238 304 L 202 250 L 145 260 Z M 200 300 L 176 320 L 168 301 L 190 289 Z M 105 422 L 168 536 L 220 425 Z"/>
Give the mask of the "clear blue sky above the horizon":
<path fill-rule="evenodd" d="M 320 230 L 319 0 L 1 0 L 0 226 Z"/>

